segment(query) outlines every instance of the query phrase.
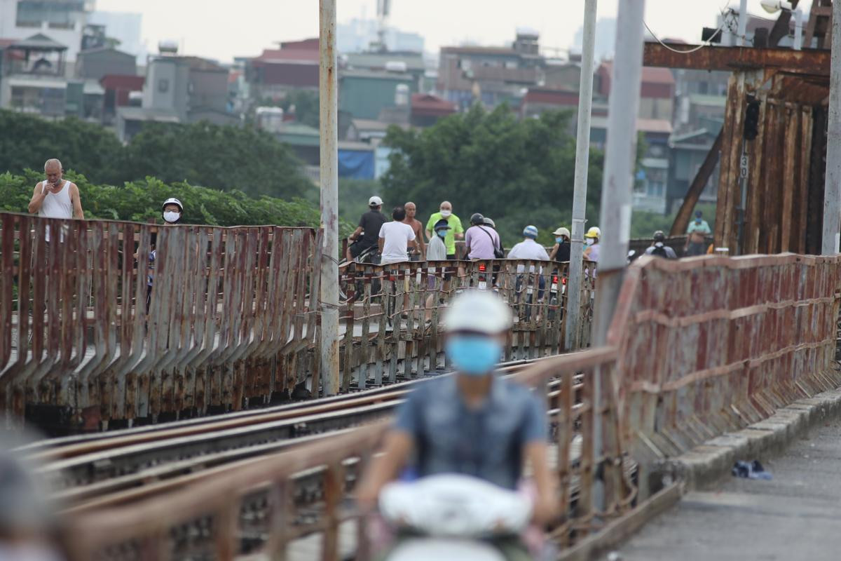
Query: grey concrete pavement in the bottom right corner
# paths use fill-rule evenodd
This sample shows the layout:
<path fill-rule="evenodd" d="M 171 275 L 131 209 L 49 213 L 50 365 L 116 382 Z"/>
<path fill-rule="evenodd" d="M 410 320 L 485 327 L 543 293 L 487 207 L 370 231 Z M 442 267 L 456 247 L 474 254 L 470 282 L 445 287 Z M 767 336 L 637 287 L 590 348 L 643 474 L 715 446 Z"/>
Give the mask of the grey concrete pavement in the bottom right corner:
<path fill-rule="evenodd" d="M 719 490 L 688 493 L 619 548 L 621 559 L 841 558 L 841 420 L 760 460 L 773 480 L 733 478 Z"/>

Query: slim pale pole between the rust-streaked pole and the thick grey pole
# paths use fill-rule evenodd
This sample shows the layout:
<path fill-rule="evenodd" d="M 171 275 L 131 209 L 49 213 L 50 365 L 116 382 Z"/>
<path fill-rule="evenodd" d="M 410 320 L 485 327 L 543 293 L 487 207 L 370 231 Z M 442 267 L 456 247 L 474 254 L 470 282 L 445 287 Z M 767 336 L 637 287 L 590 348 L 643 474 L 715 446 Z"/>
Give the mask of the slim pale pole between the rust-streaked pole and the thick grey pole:
<path fill-rule="evenodd" d="M 581 273 L 584 268 L 584 214 L 587 212 L 587 172 L 590 167 L 590 116 L 593 106 L 593 58 L 595 56 L 595 15 L 597 0 L 584 1 L 584 43 L 581 50 L 578 132 L 575 138 L 575 183 L 573 195 L 572 247 L 569 251 L 567 287 L 567 332 L 565 348 L 579 346 L 581 312 Z"/>

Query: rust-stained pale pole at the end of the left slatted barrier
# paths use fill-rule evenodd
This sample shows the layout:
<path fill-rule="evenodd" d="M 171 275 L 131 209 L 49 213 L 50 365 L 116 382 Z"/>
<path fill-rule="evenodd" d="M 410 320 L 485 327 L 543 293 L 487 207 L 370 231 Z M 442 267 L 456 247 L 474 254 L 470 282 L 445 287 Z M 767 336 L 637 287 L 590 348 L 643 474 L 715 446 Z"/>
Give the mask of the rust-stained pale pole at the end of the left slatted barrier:
<path fill-rule="evenodd" d="M 339 392 L 339 121 L 336 0 L 320 0 L 320 183 L 324 228 L 321 274 L 320 378 L 325 395 Z M 310 298 L 315 295 L 310 295 Z M 312 393 L 318 395 L 318 388 Z"/>

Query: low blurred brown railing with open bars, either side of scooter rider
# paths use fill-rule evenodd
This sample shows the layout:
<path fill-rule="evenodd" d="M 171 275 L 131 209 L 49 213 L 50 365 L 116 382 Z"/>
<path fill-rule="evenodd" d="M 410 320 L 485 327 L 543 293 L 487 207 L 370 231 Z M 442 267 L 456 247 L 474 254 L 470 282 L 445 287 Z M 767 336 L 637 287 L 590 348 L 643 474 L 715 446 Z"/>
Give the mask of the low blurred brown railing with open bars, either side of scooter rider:
<path fill-rule="evenodd" d="M 598 349 L 549 358 L 517 376 L 547 396 L 562 505 L 553 535 L 563 544 L 620 516 L 635 496 L 611 389 L 615 366 L 616 351 Z M 600 411 L 592 407 L 597 376 L 604 392 Z M 600 452 L 592 446 L 595 415 L 603 419 Z M 342 556 L 351 551 L 357 559 L 369 559 L 367 521 L 343 499 L 352 495 L 384 431 L 384 424 L 363 427 L 232 468 L 170 495 L 77 513 L 66 521 L 66 531 L 75 537 L 71 559 L 114 558 L 118 553 L 120 558 L 148 560 L 284 558 L 302 548 L 311 558 L 340 558 L 341 549 Z M 598 501 L 595 479 L 603 481 Z M 296 542 L 307 535 L 316 543 Z"/>

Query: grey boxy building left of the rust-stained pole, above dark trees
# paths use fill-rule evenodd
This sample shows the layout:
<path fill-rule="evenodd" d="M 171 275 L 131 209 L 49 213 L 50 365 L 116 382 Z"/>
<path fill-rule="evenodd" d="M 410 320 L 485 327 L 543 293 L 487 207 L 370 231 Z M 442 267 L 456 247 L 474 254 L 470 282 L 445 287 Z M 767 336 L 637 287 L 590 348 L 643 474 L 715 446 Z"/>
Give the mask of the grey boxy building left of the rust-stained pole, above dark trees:
<path fill-rule="evenodd" d="M 236 124 L 228 110 L 228 69 L 198 56 L 161 55 L 146 65 L 140 107 L 117 108 L 120 140 L 140 132 L 145 122 Z"/>

